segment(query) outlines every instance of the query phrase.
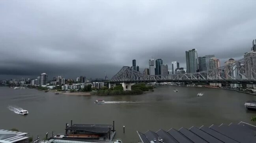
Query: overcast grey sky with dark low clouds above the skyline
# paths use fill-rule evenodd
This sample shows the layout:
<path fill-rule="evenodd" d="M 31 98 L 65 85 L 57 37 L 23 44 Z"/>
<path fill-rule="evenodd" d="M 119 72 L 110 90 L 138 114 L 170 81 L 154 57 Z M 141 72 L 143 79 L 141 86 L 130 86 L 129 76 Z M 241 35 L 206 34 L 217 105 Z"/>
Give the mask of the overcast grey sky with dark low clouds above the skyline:
<path fill-rule="evenodd" d="M 0 79 L 112 78 L 136 59 L 185 66 L 185 51 L 239 60 L 256 39 L 255 0 L 1 0 Z"/>

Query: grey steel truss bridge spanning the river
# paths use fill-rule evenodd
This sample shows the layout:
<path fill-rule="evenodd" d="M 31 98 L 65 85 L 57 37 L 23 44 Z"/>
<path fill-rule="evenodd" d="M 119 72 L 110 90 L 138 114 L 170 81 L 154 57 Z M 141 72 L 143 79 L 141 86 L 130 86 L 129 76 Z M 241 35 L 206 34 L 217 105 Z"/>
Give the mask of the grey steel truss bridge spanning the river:
<path fill-rule="evenodd" d="M 123 66 L 121 70 L 110 80 L 110 83 L 135 82 L 210 82 L 256 84 L 256 54 L 235 62 L 226 63 L 225 66 L 217 69 L 185 74 L 146 75 L 134 71 L 131 67 Z"/>

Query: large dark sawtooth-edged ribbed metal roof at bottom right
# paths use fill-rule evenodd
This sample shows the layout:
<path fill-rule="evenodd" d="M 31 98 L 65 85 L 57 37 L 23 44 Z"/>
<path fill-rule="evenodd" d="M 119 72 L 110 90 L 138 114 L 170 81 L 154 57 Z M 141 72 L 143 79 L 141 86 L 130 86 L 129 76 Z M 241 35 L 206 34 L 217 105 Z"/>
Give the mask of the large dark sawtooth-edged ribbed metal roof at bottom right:
<path fill-rule="evenodd" d="M 164 143 L 256 143 L 256 126 L 240 122 L 190 129 L 182 127 L 179 130 L 170 129 L 168 132 L 162 129 L 157 132 L 149 130 L 145 134 L 138 132 L 138 135 L 142 143 L 150 143 L 158 137 L 161 137 Z"/>

